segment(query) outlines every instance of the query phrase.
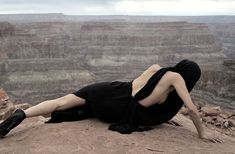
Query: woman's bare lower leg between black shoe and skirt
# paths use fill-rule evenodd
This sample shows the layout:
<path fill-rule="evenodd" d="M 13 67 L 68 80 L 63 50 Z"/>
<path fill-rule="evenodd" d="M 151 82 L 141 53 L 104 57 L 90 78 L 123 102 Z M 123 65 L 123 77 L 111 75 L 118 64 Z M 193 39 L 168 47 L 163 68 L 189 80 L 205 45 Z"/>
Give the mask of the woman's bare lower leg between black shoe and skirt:
<path fill-rule="evenodd" d="M 65 110 L 75 106 L 84 105 L 85 103 L 85 99 L 75 96 L 74 94 L 68 94 L 57 99 L 43 101 L 26 109 L 24 112 L 28 118 L 50 114 L 53 111 Z"/>

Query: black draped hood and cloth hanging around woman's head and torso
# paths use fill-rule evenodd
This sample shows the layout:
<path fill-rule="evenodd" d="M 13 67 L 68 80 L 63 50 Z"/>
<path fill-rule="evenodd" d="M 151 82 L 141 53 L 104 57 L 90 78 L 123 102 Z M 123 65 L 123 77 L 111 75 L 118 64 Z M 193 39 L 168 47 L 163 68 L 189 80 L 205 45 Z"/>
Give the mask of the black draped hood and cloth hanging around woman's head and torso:
<path fill-rule="evenodd" d="M 167 71 L 179 73 L 185 80 L 186 87 L 189 92 L 192 90 L 193 86 L 196 84 L 201 75 L 199 66 L 195 62 L 187 59 L 180 61 L 174 67 L 161 68 L 133 97 L 122 121 L 111 124 L 109 130 L 118 131 L 122 134 L 130 134 L 138 130 L 150 130 L 151 127 L 140 127 L 141 122 L 142 124 L 151 125 L 151 119 L 153 119 L 153 125 L 162 124 L 177 114 L 177 112 L 183 106 L 183 101 L 177 95 L 176 90 L 169 94 L 166 102 L 163 104 L 155 104 L 151 107 L 145 108 L 138 103 L 138 100 L 141 100 L 151 94 L 159 80 Z M 145 121 L 148 122 L 145 123 Z"/>

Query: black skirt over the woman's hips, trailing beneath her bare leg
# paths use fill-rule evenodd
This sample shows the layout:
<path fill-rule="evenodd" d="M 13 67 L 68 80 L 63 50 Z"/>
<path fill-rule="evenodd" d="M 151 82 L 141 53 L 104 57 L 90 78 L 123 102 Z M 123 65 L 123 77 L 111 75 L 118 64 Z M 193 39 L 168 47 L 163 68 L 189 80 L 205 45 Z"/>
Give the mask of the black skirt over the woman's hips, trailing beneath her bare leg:
<path fill-rule="evenodd" d="M 122 120 L 132 100 L 131 82 L 113 81 L 87 85 L 73 94 L 86 100 L 86 104 L 63 111 L 54 111 L 46 123 L 83 120 L 96 117 L 104 122 Z"/>

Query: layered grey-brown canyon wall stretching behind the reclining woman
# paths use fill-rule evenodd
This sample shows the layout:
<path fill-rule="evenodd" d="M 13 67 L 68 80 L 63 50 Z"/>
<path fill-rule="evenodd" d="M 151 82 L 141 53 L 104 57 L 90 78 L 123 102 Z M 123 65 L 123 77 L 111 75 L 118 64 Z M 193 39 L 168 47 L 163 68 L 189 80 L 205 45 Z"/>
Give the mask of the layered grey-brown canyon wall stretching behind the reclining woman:
<path fill-rule="evenodd" d="M 130 81 L 185 58 L 202 70 L 193 100 L 234 110 L 234 16 L 0 15 L 0 88 L 18 103 Z"/>

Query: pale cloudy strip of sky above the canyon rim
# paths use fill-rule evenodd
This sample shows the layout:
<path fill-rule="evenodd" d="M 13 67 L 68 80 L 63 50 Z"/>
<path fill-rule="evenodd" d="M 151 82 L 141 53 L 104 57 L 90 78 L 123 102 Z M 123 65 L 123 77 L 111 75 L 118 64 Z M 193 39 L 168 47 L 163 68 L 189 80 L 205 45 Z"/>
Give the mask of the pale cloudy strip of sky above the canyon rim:
<path fill-rule="evenodd" d="M 0 14 L 235 15 L 235 0 L 0 0 Z"/>

